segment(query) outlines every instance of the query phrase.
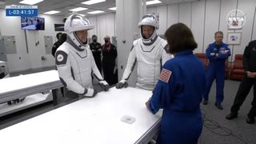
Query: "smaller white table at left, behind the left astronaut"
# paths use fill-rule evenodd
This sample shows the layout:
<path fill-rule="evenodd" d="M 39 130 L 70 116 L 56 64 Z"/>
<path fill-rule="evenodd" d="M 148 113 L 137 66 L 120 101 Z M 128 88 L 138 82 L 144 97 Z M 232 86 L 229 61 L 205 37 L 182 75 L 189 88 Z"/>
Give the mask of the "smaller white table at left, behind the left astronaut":
<path fill-rule="evenodd" d="M 0 103 L 54 90 L 62 86 L 57 70 L 2 78 L 0 79 Z"/>

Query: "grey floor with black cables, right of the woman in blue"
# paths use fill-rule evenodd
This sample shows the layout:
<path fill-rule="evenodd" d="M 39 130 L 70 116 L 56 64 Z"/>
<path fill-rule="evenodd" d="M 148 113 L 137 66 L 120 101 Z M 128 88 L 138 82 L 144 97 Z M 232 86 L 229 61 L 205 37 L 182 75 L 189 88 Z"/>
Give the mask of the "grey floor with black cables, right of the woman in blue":
<path fill-rule="evenodd" d="M 204 126 L 201 138 L 198 143 L 202 144 L 255 144 L 256 124 L 247 124 L 246 116 L 250 110 L 250 102 L 253 98 L 253 89 L 247 96 L 246 101 L 238 112 L 238 118 L 226 120 L 226 115 L 230 113 L 230 107 L 234 102 L 235 94 L 240 82 L 226 80 L 224 91 L 224 110 L 218 110 L 214 106 L 215 102 L 215 82 L 210 91 L 208 105 L 202 105 L 205 115 Z"/>

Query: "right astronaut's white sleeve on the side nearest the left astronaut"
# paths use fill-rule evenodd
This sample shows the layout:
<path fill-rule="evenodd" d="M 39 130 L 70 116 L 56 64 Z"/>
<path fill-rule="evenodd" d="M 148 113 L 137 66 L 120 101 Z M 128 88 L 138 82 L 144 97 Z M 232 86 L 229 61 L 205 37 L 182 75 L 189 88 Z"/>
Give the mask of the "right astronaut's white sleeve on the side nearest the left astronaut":
<path fill-rule="evenodd" d="M 122 75 L 122 79 L 128 80 L 128 78 L 130 77 L 130 74 L 134 70 L 134 66 L 136 65 L 136 61 L 137 61 L 135 51 L 136 50 L 134 50 L 134 46 L 133 46 L 132 49 L 130 50 L 128 61 L 126 64 L 126 70 L 124 71 L 124 73 Z"/>

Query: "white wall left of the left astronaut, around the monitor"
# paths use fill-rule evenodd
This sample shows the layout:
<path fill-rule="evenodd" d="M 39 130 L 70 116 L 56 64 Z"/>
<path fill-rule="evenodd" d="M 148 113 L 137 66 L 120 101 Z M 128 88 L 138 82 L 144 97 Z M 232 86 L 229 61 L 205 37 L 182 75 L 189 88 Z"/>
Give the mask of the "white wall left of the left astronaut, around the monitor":
<path fill-rule="evenodd" d="M 38 17 L 45 18 L 45 30 L 22 30 L 20 17 L 6 17 L 5 10 L 0 10 L 2 36 L 14 35 L 16 41 L 17 54 L 7 54 L 7 66 L 10 72 L 54 66 L 53 56 L 46 54 L 44 36 L 52 36 L 55 42 L 55 35 L 58 32 L 54 31 L 54 23 L 63 23 L 63 18 L 42 14 Z M 35 46 L 37 41 L 39 45 Z M 46 58 L 45 61 L 42 61 L 42 56 Z"/>

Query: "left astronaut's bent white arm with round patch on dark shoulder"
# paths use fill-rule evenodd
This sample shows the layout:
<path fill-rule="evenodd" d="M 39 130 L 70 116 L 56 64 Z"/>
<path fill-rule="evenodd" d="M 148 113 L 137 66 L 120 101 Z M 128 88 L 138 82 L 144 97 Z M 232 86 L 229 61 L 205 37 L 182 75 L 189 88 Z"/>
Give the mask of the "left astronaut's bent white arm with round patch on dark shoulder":
<path fill-rule="evenodd" d="M 74 80 L 71 74 L 71 65 L 68 58 L 68 54 L 62 50 L 56 52 L 56 66 L 58 70 L 58 76 L 62 84 L 69 90 L 74 91 L 77 94 L 83 94 L 85 88 Z"/>

